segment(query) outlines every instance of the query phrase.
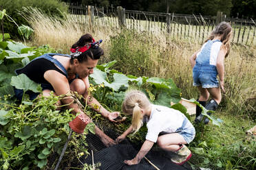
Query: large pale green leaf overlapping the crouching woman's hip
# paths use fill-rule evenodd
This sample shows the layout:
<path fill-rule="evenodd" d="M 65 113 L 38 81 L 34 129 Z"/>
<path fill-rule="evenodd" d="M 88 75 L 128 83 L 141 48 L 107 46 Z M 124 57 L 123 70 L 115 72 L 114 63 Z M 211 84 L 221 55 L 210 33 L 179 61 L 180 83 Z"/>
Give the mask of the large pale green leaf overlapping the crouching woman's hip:
<path fill-rule="evenodd" d="M 30 80 L 30 78 L 25 74 L 12 76 L 11 84 L 12 86 L 15 86 L 15 88 L 22 89 L 24 91 L 32 90 L 34 93 L 40 92 L 40 90 L 38 90 L 40 85 Z"/>

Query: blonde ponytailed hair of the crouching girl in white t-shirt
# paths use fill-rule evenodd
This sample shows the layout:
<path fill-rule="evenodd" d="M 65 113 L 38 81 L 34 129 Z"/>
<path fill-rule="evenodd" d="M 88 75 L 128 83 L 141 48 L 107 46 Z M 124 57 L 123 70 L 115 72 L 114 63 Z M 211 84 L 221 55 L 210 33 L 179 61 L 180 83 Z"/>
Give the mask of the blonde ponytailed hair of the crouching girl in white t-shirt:
<path fill-rule="evenodd" d="M 150 105 L 151 103 L 147 96 L 139 90 L 132 90 L 127 93 L 125 100 L 122 102 L 122 112 L 132 114 L 131 125 L 134 134 L 143 125 L 143 117 L 140 109 L 148 108 Z"/>

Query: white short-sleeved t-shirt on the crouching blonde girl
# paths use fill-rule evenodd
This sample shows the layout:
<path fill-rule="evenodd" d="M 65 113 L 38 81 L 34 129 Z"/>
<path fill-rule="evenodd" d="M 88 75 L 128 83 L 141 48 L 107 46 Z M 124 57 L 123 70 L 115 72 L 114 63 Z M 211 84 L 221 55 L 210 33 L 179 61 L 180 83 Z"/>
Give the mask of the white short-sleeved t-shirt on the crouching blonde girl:
<path fill-rule="evenodd" d="M 156 143 L 160 132 L 180 132 L 181 129 L 184 129 L 182 127 L 184 119 L 186 119 L 186 116 L 179 110 L 152 104 L 150 117 L 144 117 L 144 121 L 147 121 L 146 139 Z"/>

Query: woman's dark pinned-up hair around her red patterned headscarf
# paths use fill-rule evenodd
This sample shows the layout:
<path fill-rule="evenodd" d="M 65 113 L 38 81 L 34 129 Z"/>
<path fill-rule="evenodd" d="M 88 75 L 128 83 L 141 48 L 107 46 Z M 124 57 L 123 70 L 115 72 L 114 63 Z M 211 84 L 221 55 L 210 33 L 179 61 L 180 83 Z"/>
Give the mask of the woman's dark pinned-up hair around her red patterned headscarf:
<path fill-rule="evenodd" d="M 74 45 L 72 45 L 72 49 L 75 49 L 76 47 L 83 47 L 86 44 L 89 44 L 93 42 L 93 38 L 91 34 L 85 34 L 83 36 L 81 36 L 81 38 L 79 38 L 79 40 L 74 43 Z M 98 60 L 100 59 L 100 56 L 104 55 L 104 51 L 102 48 L 97 47 L 91 47 L 89 48 L 87 51 L 81 53 L 78 57 L 72 57 L 70 62 L 71 64 L 73 64 L 74 58 L 76 58 L 78 60 L 78 62 L 85 62 L 87 61 L 87 58 L 89 56 L 89 58 L 92 58 L 92 60 Z"/>

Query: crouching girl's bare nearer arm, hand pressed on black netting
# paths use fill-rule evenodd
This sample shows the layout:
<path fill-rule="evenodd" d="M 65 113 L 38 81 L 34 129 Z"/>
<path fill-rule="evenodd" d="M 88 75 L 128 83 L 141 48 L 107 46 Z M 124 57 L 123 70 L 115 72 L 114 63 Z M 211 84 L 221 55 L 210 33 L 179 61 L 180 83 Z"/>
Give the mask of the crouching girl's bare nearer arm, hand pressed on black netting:
<path fill-rule="evenodd" d="M 140 160 L 142 160 L 142 158 L 144 158 L 144 156 L 147 155 L 147 153 L 149 152 L 149 150 L 151 149 L 151 147 L 153 147 L 153 142 L 146 140 L 142 147 L 140 148 L 140 151 L 138 152 L 138 154 L 136 155 L 136 157 L 132 160 L 125 160 L 124 162 L 127 165 L 136 165 L 140 162 Z"/>

